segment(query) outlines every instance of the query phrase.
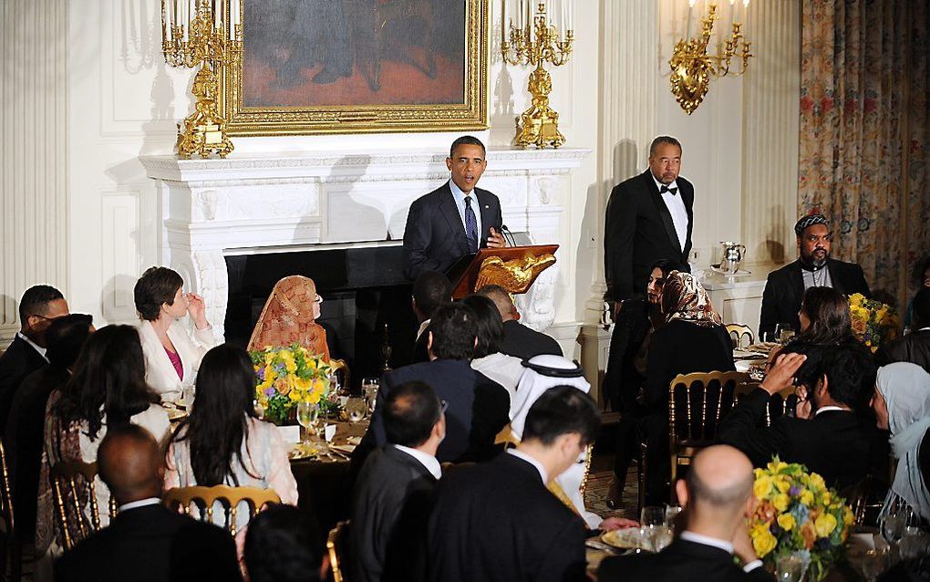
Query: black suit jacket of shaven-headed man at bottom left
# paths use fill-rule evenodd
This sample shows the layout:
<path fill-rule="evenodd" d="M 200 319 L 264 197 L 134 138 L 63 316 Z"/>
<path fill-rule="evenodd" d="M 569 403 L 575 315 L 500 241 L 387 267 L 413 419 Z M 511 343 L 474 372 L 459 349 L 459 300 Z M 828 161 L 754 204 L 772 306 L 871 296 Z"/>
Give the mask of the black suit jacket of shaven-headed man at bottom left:
<path fill-rule="evenodd" d="M 233 536 L 158 504 L 123 511 L 55 562 L 60 582 L 241 580 Z"/>

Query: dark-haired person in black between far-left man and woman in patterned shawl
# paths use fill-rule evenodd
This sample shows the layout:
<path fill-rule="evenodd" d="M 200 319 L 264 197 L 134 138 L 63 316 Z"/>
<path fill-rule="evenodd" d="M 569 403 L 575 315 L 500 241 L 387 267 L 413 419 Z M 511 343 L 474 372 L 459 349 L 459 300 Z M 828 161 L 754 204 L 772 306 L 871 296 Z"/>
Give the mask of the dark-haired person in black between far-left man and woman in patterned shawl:
<path fill-rule="evenodd" d="M 53 319 L 46 330 L 48 364 L 26 376 L 13 397 L 4 444 L 16 500 L 16 528 L 27 543 L 35 535 L 35 495 L 39 490 L 48 397 L 71 378 L 74 360 L 94 329 L 91 319 L 79 313 Z"/>

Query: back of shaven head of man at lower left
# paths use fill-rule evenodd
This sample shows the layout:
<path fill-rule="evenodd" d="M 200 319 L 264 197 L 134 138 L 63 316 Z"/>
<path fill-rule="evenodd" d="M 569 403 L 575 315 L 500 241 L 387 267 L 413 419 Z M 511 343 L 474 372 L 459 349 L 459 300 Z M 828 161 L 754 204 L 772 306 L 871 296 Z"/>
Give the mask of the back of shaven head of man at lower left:
<path fill-rule="evenodd" d="M 97 451 L 100 479 L 120 505 L 162 496 L 164 460 L 152 433 L 135 425 L 108 430 Z"/>

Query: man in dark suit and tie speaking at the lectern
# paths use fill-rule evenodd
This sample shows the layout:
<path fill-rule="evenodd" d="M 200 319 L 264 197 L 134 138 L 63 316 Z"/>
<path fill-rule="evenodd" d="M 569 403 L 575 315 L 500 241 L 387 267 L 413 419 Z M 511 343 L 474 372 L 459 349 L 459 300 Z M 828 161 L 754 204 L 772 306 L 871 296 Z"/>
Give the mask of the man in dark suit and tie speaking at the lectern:
<path fill-rule="evenodd" d="M 484 247 L 506 247 L 500 234 L 500 200 L 475 184 L 487 168 L 485 144 L 462 136 L 449 149 L 449 181 L 410 205 L 404 231 L 404 273 L 445 271 Z"/>

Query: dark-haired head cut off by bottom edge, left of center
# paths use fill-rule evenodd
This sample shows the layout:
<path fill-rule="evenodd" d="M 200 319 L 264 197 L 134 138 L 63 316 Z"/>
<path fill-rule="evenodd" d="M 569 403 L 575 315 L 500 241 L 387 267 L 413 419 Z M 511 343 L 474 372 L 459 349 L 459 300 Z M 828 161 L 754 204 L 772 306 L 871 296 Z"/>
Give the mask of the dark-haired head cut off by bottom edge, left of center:
<path fill-rule="evenodd" d="M 246 571 L 250 582 L 320 582 L 326 580 L 318 526 L 302 511 L 285 504 L 265 508 L 248 524 Z M 344 564 L 343 564 L 343 567 Z"/>

